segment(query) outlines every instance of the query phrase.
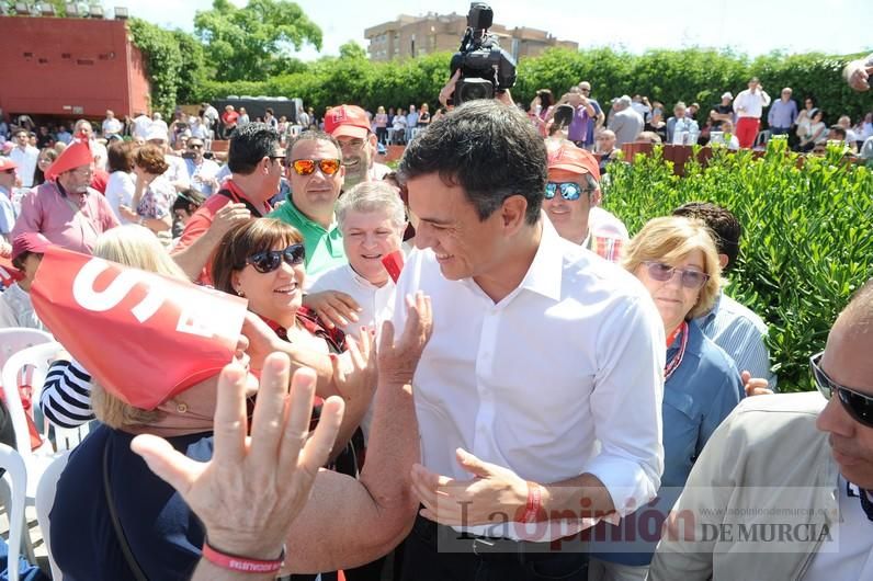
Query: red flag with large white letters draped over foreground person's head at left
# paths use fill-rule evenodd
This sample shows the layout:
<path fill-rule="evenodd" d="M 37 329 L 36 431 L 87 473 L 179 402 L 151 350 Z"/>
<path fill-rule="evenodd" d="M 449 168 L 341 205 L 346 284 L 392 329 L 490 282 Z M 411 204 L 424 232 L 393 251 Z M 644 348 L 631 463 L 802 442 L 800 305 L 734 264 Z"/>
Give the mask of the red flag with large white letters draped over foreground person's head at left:
<path fill-rule="evenodd" d="M 246 301 L 57 247 L 31 298 L 55 338 L 110 394 L 154 409 L 234 357 Z"/>

